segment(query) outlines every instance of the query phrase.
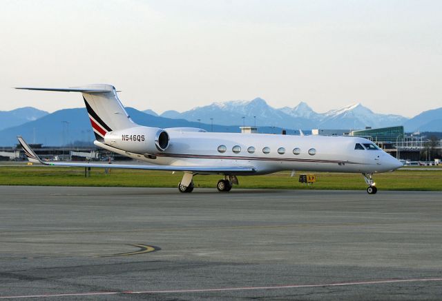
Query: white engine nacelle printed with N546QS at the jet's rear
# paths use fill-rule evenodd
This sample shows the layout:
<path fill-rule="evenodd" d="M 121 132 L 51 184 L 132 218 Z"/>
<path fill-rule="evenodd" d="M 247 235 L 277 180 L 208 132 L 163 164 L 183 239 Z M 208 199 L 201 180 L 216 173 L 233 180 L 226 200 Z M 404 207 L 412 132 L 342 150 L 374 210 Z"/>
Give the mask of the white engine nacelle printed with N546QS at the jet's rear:
<path fill-rule="evenodd" d="M 158 127 L 129 127 L 108 132 L 104 143 L 137 154 L 156 154 L 169 147 L 169 134 Z"/>

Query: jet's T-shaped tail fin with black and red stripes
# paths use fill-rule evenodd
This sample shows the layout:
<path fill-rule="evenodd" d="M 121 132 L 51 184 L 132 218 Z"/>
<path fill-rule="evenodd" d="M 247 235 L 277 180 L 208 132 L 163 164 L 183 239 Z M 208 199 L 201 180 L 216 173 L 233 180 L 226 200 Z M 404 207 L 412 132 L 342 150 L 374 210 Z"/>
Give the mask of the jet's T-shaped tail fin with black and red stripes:
<path fill-rule="evenodd" d="M 104 141 L 104 136 L 115 129 L 126 129 L 136 124 L 127 114 L 119 101 L 117 91 L 113 85 L 96 84 L 80 87 L 50 88 L 50 87 L 17 87 L 22 90 L 81 92 L 90 125 L 93 127 L 97 141 Z"/>

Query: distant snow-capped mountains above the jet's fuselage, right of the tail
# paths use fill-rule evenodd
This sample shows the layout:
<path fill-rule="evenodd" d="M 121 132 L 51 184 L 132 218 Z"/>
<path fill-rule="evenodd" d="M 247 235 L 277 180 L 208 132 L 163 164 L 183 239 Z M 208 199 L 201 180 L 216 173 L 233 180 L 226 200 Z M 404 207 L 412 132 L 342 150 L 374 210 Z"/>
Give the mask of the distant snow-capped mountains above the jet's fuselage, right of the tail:
<path fill-rule="evenodd" d="M 276 126 L 286 129 L 364 129 L 365 127 L 390 127 L 404 125 L 407 132 L 442 132 L 442 107 L 406 118 L 395 114 L 378 114 L 361 103 L 348 105 L 338 110 L 330 110 L 323 114 L 301 102 L 296 107 L 274 108 L 262 98 L 251 101 L 227 101 L 211 103 L 203 107 L 195 107 L 189 111 L 166 111 L 160 116 L 166 118 L 183 118 L 187 121 L 204 121 L 220 125 L 262 125 Z M 152 110 L 146 114 L 156 114 Z M 243 119 L 244 117 L 244 119 Z"/>

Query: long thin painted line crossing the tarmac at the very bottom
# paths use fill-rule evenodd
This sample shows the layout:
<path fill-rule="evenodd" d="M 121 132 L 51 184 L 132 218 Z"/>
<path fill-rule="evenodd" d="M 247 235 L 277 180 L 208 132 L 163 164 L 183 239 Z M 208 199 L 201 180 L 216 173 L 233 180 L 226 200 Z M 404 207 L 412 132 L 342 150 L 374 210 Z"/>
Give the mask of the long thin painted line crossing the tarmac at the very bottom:
<path fill-rule="evenodd" d="M 57 293 L 57 294 L 42 294 L 42 295 L 5 295 L 0 296 L 0 299 L 19 299 L 19 298 L 50 298 L 50 297 L 69 297 L 69 296 L 88 296 L 88 295 L 132 295 L 132 294 L 153 294 L 153 293 L 204 293 L 213 291 L 257 291 L 267 289 L 302 289 L 309 287 L 343 287 L 352 285 L 370 285 L 370 284 L 388 284 L 388 283 L 403 283 L 403 282 L 430 282 L 442 281 L 442 278 L 417 278 L 417 279 L 387 279 L 387 280 L 372 280 L 372 281 L 357 281 L 357 282 L 338 282 L 338 283 L 323 283 L 323 284 L 291 284 L 291 285 L 275 285 L 268 287 L 224 287 L 218 289 L 173 289 L 162 291 L 96 291 L 88 293 Z"/>

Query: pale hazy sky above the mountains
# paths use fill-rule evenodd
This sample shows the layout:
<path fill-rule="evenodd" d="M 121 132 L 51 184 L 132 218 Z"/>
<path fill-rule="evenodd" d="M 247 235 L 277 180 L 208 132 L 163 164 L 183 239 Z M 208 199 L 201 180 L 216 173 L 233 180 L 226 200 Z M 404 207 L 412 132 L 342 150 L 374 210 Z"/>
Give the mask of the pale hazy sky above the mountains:
<path fill-rule="evenodd" d="M 214 101 L 442 107 L 442 1 L 1 0 L 0 110 L 84 105 L 14 90 L 110 83 L 126 106 Z"/>

